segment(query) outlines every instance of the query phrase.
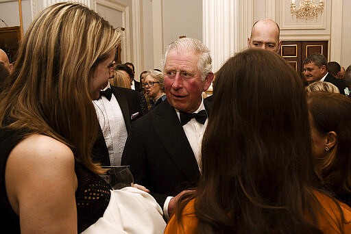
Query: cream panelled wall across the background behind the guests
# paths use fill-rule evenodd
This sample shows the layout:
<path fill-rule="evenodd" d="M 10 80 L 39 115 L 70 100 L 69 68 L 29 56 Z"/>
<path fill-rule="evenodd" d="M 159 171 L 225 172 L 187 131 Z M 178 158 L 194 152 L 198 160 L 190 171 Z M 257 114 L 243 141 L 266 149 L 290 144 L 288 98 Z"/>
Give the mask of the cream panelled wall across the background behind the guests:
<path fill-rule="evenodd" d="M 32 21 L 33 9 L 39 9 L 47 4 L 49 0 L 22 0 L 23 1 L 23 29 L 27 30 L 29 23 Z M 50 0 L 51 1 L 51 0 Z M 56 0 L 54 0 L 56 1 Z M 129 56 L 130 62 L 138 62 L 138 73 L 150 68 L 159 68 L 160 57 L 166 44 L 179 38 L 179 36 L 187 36 L 204 40 L 203 34 L 203 16 L 202 8 L 205 0 L 91 0 L 90 8 L 94 8 L 94 2 L 121 3 L 128 6 L 128 21 L 123 21 L 121 12 L 111 10 L 106 4 L 97 5 L 99 14 L 103 14 L 108 21 L 115 27 L 120 25 L 121 21 L 126 27 L 129 42 L 126 44 L 125 50 Z M 214 2 L 227 0 L 211 0 Z M 284 40 L 329 40 L 330 44 L 330 60 L 339 62 L 342 66 L 351 64 L 351 1 L 325 0 L 326 8 L 324 10 L 325 27 L 322 25 L 319 29 L 306 27 L 305 23 L 301 24 L 300 29 L 286 29 L 284 25 L 289 26 L 289 3 L 290 0 L 234 0 L 238 6 L 237 28 L 233 31 L 237 32 L 236 52 L 244 49 L 246 46 L 247 36 L 250 36 L 249 25 L 259 18 L 274 18 L 283 26 L 281 38 Z M 298 1 L 297 1 L 298 2 Z M 138 3 L 140 15 L 136 17 L 134 12 L 135 5 Z M 3 2 L 0 0 L 0 18 L 8 23 L 9 26 L 18 25 L 17 1 Z M 30 5 L 30 7 L 29 7 Z M 243 5 L 244 7 L 241 7 Z M 156 6 L 156 8 L 155 8 Z M 31 11 L 32 8 L 32 11 Z M 133 9 L 132 9 L 133 8 Z M 241 10 L 244 9 L 244 10 Z M 10 14 L 9 14 L 10 12 Z M 285 12 L 287 18 L 282 18 L 282 12 Z M 156 17 L 155 17 L 156 16 Z M 135 21 L 138 24 L 135 24 Z M 4 27 L 5 25 L 1 25 Z M 134 25 L 138 25 L 135 30 Z M 243 26 L 244 25 L 244 26 Z M 136 35 L 137 34 L 137 35 Z M 138 37 L 140 38 L 138 40 Z M 137 47 L 137 49 L 135 49 Z M 140 59 L 138 60 L 138 56 Z M 134 61 L 135 60 L 135 61 Z M 123 62 L 126 62 L 124 60 Z"/>

